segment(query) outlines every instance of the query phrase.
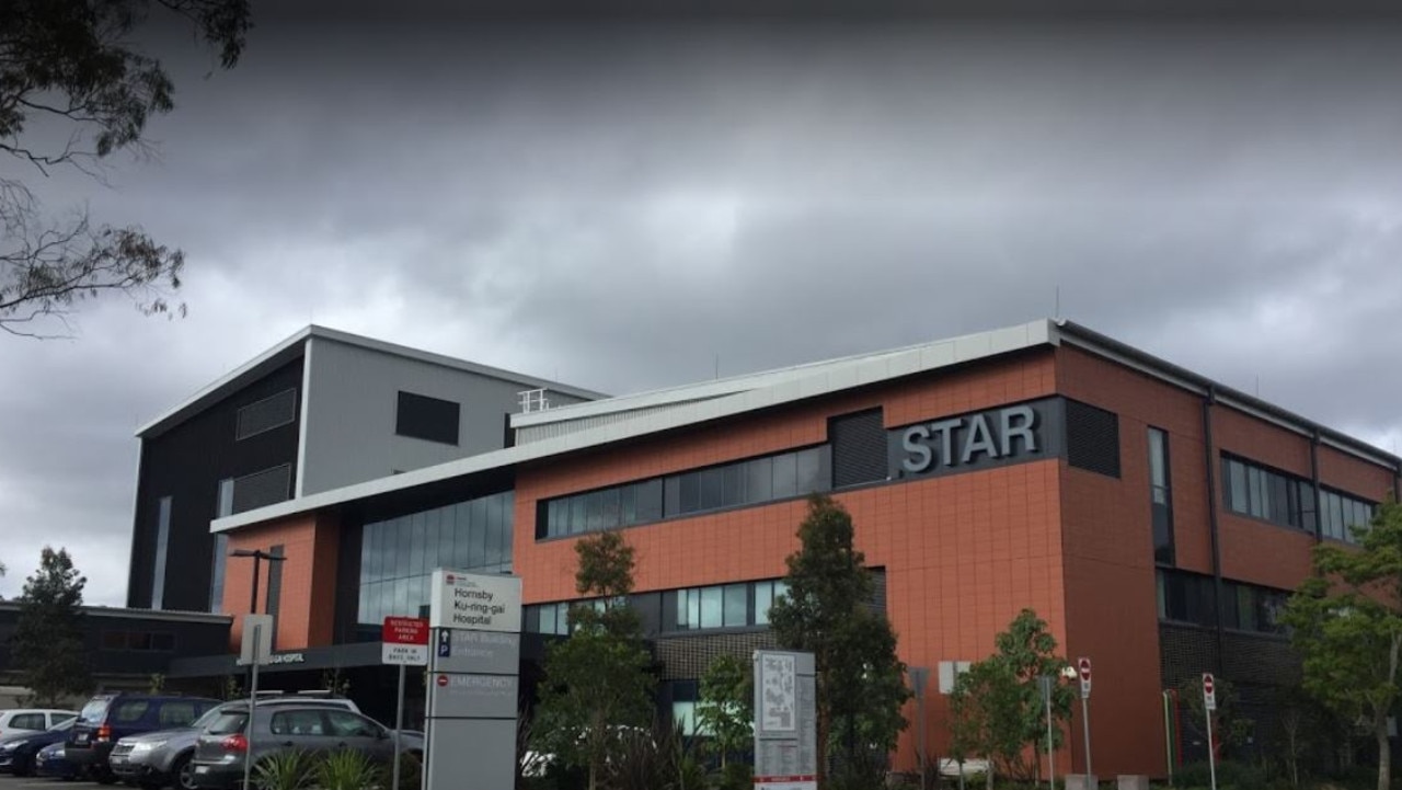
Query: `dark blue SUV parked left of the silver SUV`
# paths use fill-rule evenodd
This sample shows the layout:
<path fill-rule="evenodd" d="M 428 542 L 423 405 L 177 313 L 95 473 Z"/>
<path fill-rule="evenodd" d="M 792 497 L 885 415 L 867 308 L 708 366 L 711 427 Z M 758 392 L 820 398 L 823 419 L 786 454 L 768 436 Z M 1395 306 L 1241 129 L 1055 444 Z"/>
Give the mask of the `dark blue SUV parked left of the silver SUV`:
<path fill-rule="evenodd" d="M 121 738 L 189 727 L 219 700 L 172 695 L 108 693 L 90 699 L 79 713 L 64 755 L 79 772 L 101 784 L 112 784 L 116 775 L 108 765 L 112 747 Z"/>

